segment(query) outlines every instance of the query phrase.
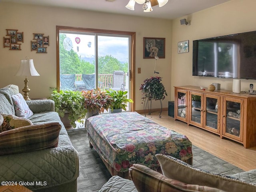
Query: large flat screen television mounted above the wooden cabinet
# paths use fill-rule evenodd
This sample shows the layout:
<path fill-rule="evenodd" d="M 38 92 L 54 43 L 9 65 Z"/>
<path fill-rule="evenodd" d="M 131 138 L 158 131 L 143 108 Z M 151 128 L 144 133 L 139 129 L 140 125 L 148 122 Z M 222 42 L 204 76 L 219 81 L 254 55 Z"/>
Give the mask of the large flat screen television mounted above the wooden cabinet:
<path fill-rule="evenodd" d="M 256 79 L 256 31 L 194 40 L 192 74 Z"/>

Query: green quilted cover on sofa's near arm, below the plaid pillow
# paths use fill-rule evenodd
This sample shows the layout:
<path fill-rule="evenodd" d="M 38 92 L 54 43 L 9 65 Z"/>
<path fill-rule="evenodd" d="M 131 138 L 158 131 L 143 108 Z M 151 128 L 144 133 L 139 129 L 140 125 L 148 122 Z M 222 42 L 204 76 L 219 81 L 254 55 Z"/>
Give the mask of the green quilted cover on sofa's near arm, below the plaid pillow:
<path fill-rule="evenodd" d="M 34 182 L 27 186 L 32 191 L 68 183 L 78 176 L 78 152 L 68 135 L 59 136 L 56 148 L 4 155 L 0 162 L 0 181 Z"/>

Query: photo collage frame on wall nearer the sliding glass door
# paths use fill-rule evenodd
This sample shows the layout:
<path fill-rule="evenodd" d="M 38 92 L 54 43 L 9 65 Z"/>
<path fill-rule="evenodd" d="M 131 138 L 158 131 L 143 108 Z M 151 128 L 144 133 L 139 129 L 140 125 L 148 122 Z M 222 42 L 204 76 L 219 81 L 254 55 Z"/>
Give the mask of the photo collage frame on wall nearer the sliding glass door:
<path fill-rule="evenodd" d="M 36 53 L 47 53 L 47 47 L 49 45 L 49 36 L 44 36 L 42 33 L 33 33 L 31 51 L 36 51 Z"/>

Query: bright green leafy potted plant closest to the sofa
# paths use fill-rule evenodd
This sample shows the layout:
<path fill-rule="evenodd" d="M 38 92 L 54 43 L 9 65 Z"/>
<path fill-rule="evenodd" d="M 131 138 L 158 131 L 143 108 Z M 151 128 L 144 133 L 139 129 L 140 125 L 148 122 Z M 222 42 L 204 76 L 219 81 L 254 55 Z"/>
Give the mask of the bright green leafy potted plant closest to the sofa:
<path fill-rule="evenodd" d="M 76 121 L 85 117 L 84 97 L 79 91 L 53 90 L 50 97 L 55 103 L 55 111 L 58 112 L 64 126 L 76 127 Z M 68 119 L 68 120 L 67 120 Z"/>

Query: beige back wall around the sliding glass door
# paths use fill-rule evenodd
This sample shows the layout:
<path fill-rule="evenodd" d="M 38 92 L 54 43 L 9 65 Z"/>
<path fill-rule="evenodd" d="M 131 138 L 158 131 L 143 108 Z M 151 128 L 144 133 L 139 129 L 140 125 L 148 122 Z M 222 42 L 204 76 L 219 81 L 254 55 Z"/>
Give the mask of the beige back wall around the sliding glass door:
<path fill-rule="evenodd" d="M 148 14 L 148 13 L 146 13 Z M 143 37 L 166 38 L 166 58 L 157 61 L 157 71 L 163 78 L 168 97 L 163 106 L 168 106 L 170 100 L 170 68 L 172 55 L 172 21 L 152 18 L 138 18 L 116 14 L 104 14 L 43 6 L 28 6 L 0 2 L 0 87 L 16 84 L 20 92 L 24 87 L 24 77 L 14 76 L 19 68 L 20 59 L 28 56 L 34 60 L 34 65 L 40 76 L 29 77 L 30 98 L 49 97 L 50 87 L 56 87 L 56 26 L 74 26 L 97 28 L 105 30 L 121 30 L 136 32 L 136 72 L 141 68 L 141 74 L 136 73 L 136 110 L 142 110 L 140 84 L 154 73 L 154 59 L 143 59 Z M 17 29 L 24 32 L 24 43 L 20 51 L 3 48 L 3 36 L 6 29 Z M 31 52 L 30 41 L 33 33 L 44 33 L 49 36 L 50 46 L 47 54 Z M 153 108 L 159 108 L 158 102 Z"/>

